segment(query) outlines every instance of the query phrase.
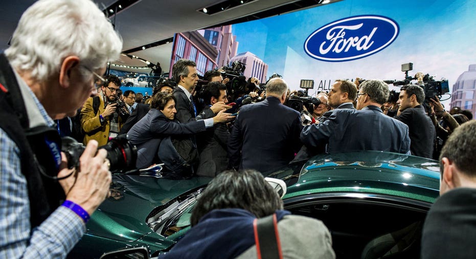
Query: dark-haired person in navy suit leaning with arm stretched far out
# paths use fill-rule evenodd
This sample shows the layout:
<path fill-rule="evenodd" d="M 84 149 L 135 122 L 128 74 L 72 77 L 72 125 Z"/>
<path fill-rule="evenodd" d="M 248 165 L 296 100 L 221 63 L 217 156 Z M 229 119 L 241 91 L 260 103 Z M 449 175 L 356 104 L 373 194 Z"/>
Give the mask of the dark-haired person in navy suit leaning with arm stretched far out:
<path fill-rule="evenodd" d="M 150 111 L 135 123 L 127 133 L 130 142 L 137 146 L 137 168 L 146 168 L 154 163 L 164 163 L 165 169 L 176 174 L 189 173 L 190 166 L 180 157 L 171 143 L 172 135 L 191 135 L 205 131 L 217 122 L 234 118 L 220 111 L 206 120 L 178 123 L 175 121 L 175 98 L 167 92 L 156 93 L 152 97 Z"/>

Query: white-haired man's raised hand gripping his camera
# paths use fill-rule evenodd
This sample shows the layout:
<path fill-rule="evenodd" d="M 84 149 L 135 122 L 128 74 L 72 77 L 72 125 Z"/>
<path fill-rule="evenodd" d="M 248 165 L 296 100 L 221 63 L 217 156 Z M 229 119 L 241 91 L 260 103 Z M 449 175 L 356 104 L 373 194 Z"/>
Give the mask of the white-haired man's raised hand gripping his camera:
<path fill-rule="evenodd" d="M 105 149 L 98 150 L 96 140 L 89 141 L 79 159 L 78 171 L 72 176 L 59 181 L 66 194 L 66 200 L 78 204 L 89 215 L 93 214 L 109 195 L 111 172 L 109 171 L 109 161 L 106 159 L 106 155 Z M 59 171 L 58 177 L 64 177 L 71 173 L 71 169 L 67 169 L 64 153 L 61 154 L 61 160 L 62 169 Z"/>

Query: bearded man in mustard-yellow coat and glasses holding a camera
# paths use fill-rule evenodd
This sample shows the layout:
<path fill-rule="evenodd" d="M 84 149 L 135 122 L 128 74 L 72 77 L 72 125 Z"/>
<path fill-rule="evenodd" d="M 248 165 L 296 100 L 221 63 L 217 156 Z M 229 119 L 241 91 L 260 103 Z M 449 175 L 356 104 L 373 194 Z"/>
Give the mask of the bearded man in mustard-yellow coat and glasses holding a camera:
<path fill-rule="evenodd" d="M 103 146 L 121 131 L 122 123 L 129 114 L 125 103 L 117 96 L 120 85 L 121 81 L 117 76 L 108 75 L 101 87 L 104 98 L 89 97 L 84 103 L 81 109 L 84 144 L 94 139 Z"/>

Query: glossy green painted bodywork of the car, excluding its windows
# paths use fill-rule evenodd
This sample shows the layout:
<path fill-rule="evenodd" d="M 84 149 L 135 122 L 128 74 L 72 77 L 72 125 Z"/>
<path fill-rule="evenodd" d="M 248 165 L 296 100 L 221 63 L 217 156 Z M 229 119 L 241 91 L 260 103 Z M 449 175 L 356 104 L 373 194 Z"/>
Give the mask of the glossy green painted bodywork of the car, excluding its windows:
<path fill-rule="evenodd" d="M 286 182 L 285 204 L 288 199 L 318 193 L 386 195 L 428 204 L 439 195 L 438 161 L 395 153 L 323 154 L 263 175 Z M 164 209 L 174 198 L 206 186 L 210 180 L 115 176 L 113 182 L 123 186 L 124 198 L 106 200 L 99 207 L 69 257 L 99 257 L 102 252 L 133 246 L 147 246 L 151 253 L 169 248 L 189 227 L 165 238 L 147 226 L 148 215 Z M 91 247 L 92 252 L 84 249 Z"/>

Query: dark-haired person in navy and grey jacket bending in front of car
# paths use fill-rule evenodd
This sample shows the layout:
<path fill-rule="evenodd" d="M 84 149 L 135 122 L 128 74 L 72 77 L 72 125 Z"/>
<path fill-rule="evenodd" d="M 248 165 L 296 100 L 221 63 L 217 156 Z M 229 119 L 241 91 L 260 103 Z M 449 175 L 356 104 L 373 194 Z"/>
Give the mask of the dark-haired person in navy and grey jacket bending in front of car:
<path fill-rule="evenodd" d="M 192 210 L 192 228 L 160 258 L 257 258 L 254 222 L 274 213 L 283 258 L 335 258 L 326 226 L 283 210 L 278 193 L 256 170 L 216 176 Z"/>

